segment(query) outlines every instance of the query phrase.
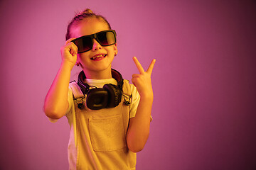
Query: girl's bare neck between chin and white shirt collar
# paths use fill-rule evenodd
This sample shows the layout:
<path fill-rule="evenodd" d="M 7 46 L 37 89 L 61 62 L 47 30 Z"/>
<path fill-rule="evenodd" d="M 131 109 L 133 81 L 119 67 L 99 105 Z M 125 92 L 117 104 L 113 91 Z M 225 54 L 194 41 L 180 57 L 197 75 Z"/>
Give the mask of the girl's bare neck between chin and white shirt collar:
<path fill-rule="evenodd" d="M 111 79 L 111 69 L 105 69 L 99 72 L 90 72 L 88 70 L 83 69 L 85 76 L 87 79 Z"/>

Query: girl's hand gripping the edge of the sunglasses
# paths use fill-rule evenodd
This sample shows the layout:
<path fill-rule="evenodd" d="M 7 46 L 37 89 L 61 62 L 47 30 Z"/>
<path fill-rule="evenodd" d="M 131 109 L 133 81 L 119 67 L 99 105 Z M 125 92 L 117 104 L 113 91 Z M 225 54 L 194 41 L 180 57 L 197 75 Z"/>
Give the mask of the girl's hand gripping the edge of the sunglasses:
<path fill-rule="evenodd" d="M 71 69 L 74 67 L 77 62 L 78 47 L 71 42 L 75 38 L 70 38 L 65 42 L 65 45 L 60 48 L 62 62 L 70 64 Z"/>

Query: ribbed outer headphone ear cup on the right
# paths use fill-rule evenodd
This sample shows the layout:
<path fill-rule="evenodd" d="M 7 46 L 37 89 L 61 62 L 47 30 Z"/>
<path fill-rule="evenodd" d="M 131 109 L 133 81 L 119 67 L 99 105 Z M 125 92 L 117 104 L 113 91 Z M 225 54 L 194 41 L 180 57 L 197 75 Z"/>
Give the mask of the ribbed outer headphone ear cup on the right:
<path fill-rule="evenodd" d="M 114 108 L 118 106 L 122 99 L 122 91 L 118 88 L 118 86 L 114 84 L 105 84 L 103 89 L 107 90 L 109 94 L 109 103 L 108 108 Z"/>

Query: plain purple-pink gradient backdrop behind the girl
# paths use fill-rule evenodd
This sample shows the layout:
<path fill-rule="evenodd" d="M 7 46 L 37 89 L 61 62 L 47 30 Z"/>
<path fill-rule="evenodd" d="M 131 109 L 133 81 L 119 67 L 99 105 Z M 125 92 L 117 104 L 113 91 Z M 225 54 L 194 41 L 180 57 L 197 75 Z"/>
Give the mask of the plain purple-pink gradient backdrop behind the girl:
<path fill-rule="evenodd" d="M 43 101 L 68 21 L 86 7 L 117 30 L 113 68 L 125 79 L 138 72 L 133 56 L 145 69 L 156 58 L 137 169 L 256 169 L 252 0 L 1 0 L 0 169 L 68 169 L 68 121 L 50 123 Z"/>

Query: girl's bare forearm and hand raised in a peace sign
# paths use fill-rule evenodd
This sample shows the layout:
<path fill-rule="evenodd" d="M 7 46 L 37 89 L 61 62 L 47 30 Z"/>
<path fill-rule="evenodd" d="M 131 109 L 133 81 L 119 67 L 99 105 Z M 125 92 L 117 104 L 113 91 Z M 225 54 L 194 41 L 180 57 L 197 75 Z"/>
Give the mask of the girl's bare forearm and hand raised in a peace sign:
<path fill-rule="evenodd" d="M 134 118 L 129 120 L 127 131 L 127 145 L 132 152 L 139 152 L 144 148 L 149 137 L 153 90 L 151 86 L 151 72 L 156 60 L 152 60 L 149 69 L 144 72 L 136 57 L 133 58 L 140 74 L 133 74 L 132 83 L 137 87 L 140 95 L 139 106 Z"/>

